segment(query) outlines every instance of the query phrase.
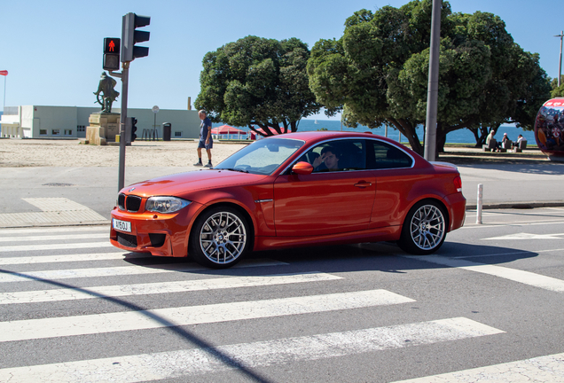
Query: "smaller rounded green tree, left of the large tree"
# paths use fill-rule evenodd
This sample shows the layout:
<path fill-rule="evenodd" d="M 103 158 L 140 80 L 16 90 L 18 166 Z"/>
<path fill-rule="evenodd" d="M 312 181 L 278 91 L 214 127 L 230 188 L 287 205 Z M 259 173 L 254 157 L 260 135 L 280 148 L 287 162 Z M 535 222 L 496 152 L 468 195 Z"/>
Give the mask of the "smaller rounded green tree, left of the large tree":
<path fill-rule="evenodd" d="M 212 121 L 258 126 L 267 136 L 297 131 L 302 118 L 320 109 L 309 90 L 308 59 L 307 44 L 296 38 L 247 36 L 227 43 L 204 56 L 194 105 Z"/>

